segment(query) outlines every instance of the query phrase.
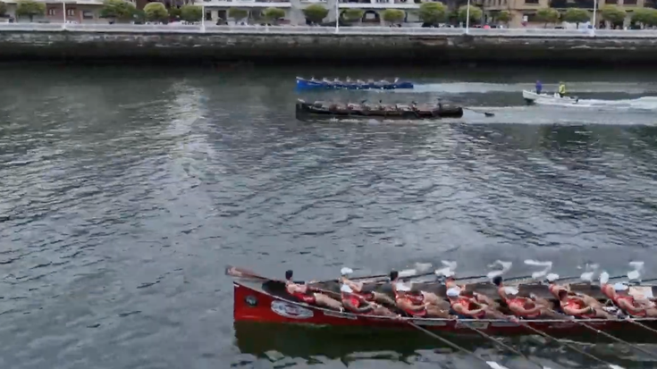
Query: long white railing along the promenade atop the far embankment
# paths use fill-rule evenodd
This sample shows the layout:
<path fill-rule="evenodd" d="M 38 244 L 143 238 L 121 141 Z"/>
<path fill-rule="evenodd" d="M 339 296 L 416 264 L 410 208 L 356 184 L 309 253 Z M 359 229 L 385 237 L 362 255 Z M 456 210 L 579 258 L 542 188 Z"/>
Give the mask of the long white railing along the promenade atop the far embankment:
<path fill-rule="evenodd" d="M 215 26 L 146 25 L 146 24 L 63 24 L 0 23 L 2 31 L 41 32 L 122 32 L 122 33 L 209 33 L 209 34 L 276 34 L 276 35 L 394 35 L 394 36 L 459 36 L 505 38 L 657 38 L 654 29 L 462 29 L 421 27 L 306 27 L 306 26 Z"/>

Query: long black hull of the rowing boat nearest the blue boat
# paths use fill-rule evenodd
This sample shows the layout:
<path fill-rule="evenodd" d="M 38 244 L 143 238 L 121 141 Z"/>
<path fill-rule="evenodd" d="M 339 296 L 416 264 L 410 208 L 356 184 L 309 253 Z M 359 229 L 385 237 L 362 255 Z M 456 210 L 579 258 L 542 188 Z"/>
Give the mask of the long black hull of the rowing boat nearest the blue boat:
<path fill-rule="evenodd" d="M 298 101 L 296 105 L 298 119 L 336 118 L 336 119 L 397 119 L 397 120 L 425 120 L 436 118 L 460 118 L 463 108 L 460 106 L 442 105 L 431 109 L 411 108 L 403 109 L 332 109 L 330 107 Z"/>

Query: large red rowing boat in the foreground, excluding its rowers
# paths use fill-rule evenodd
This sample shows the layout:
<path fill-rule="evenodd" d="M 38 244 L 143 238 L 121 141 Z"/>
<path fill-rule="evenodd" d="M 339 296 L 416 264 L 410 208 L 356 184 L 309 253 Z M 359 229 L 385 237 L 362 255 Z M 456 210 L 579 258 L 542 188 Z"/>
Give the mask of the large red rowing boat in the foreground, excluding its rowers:
<path fill-rule="evenodd" d="M 513 323 L 505 320 L 469 320 L 469 319 L 435 319 L 435 318 L 392 318 L 365 314 L 351 314 L 339 312 L 320 306 L 308 305 L 290 296 L 285 290 L 284 281 L 265 279 L 254 273 L 245 273 L 244 270 L 231 268 L 226 273 L 236 277 L 234 287 L 234 319 L 235 322 L 256 323 L 292 323 L 313 326 L 354 326 L 382 329 L 410 329 L 409 323 L 417 324 L 429 331 L 447 331 L 452 333 L 475 333 L 473 328 L 487 334 L 496 336 L 513 336 L 532 334 L 525 325 L 553 336 L 581 336 L 595 330 L 605 332 L 628 333 L 628 331 L 641 331 L 644 326 L 657 328 L 655 319 L 629 320 L 522 320 Z M 378 291 L 390 290 L 390 283 L 373 283 Z M 337 281 L 320 281 L 312 284 L 313 287 L 339 293 Z M 496 289 L 490 282 L 477 282 L 467 285 L 467 289 L 476 290 L 489 297 L 498 298 Z M 430 290 L 439 296 L 444 296 L 444 286 L 438 282 L 417 283 L 414 289 Z M 653 289 L 653 286 L 636 286 L 636 290 Z M 520 295 L 528 296 L 530 293 L 542 298 L 552 298 L 547 285 L 541 283 L 527 283 L 518 286 Z M 602 299 L 598 286 L 588 283 L 570 284 L 570 289 L 583 292 L 594 298 Z M 585 324 L 583 324 L 585 323 Z M 588 326 L 588 327 L 587 327 Z M 595 330 L 592 330 L 594 328 Z M 626 336 L 626 334 L 623 334 Z M 628 335 L 636 340 L 639 335 Z"/>

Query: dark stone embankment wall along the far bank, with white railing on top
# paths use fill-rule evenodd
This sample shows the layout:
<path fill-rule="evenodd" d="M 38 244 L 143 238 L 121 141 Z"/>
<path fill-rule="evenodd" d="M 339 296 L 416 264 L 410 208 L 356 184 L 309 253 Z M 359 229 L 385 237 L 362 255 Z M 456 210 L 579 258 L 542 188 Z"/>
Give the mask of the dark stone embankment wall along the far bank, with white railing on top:
<path fill-rule="evenodd" d="M 657 32 L 5 24 L 0 59 L 651 63 Z"/>

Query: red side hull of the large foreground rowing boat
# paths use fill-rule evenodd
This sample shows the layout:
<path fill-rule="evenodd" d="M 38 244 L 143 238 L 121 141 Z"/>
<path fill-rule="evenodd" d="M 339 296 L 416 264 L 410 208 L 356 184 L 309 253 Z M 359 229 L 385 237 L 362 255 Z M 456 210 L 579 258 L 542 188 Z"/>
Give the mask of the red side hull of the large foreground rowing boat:
<path fill-rule="evenodd" d="M 444 331 L 456 334 L 477 334 L 470 327 L 496 336 L 533 334 L 523 327 L 529 324 L 535 329 L 552 336 L 586 336 L 595 334 L 582 324 L 570 321 L 532 321 L 512 323 L 501 320 L 445 320 L 445 319 L 392 319 L 360 314 L 340 313 L 318 306 L 310 306 L 280 298 L 258 288 L 256 283 L 233 282 L 235 322 L 293 323 L 311 326 L 354 326 L 382 329 L 413 329 L 408 323 L 415 323 L 430 331 Z M 640 321 L 640 320 L 637 320 Z M 613 332 L 641 331 L 644 328 L 627 321 L 586 320 L 586 324 L 598 330 Z M 646 325 L 654 326 L 653 319 L 644 320 Z"/>

